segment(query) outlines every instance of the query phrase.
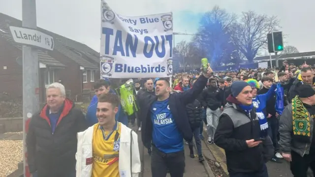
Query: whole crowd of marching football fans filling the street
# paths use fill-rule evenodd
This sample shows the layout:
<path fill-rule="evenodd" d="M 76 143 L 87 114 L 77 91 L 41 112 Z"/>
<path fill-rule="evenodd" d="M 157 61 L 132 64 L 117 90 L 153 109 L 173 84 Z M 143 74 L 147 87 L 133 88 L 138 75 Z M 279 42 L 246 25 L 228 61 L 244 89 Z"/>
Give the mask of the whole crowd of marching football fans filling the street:
<path fill-rule="evenodd" d="M 213 72 L 209 67 L 176 74 L 172 83 L 136 79 L 139 111 L 129 116 L 107 80 L 95 82 L 86 115 L 65 98 L 62 84 L 53 83 L 47 105 L 29 125 L 29 170 L 33 177 L 138 177 L 139 144 L 130 122 L 151 155 L 152 177 L 183 177 L 184 143 L 191 158 L 195 144 L 203 162 L 204 138 L 225 150 L 230 177 L 268 177 L 266 163 L 280 159 L 290 162 L 294 177 L 307 177 L 309 168 L 315 170 L 313 71 L 284 61 L 275 69 Z"/>

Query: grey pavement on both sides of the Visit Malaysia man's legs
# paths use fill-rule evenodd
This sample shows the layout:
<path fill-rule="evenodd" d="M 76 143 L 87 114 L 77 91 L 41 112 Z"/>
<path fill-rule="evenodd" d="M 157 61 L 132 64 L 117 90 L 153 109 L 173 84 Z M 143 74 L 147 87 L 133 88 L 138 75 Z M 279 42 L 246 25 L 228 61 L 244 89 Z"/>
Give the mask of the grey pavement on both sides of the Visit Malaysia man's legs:
<path fill-rule="evenodd" d="M 151 157 L 148 154 L 147 149 L 143 146 L 143 143 L 141 141 L 141 132 L 138 132 L 136 127 L 132 127 L 132 128 L 138 134 L 138 143 L 139 143 L 141 168 L 142 168 L 142 173 L 139 177 L 152 177 Z M 215 177 L 206 161 L 204 163 L 199 163 L 198 157 L 190 158 L 188 145 L 185 144 L 184 148 L 185 148 L 185 156 L 186 156 L 186 159 L 185 159 L 186 168 L 185 168 L 184 177 Z M 196 152 L 196 149 L 194 149 L 194 152 Z M 170 175 L 167 174 L 166 177 L 170 177 Z"/>

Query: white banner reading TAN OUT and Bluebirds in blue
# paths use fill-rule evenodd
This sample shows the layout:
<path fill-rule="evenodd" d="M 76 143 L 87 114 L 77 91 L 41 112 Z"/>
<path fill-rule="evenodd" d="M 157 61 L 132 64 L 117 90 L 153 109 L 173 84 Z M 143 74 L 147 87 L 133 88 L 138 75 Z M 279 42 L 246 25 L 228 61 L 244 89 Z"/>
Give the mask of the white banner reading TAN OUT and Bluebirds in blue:
<path fill-rule="evenodd" d="M 101 77 L 172 76 L 172 13 L 125 17 L 101 1 Z"/>

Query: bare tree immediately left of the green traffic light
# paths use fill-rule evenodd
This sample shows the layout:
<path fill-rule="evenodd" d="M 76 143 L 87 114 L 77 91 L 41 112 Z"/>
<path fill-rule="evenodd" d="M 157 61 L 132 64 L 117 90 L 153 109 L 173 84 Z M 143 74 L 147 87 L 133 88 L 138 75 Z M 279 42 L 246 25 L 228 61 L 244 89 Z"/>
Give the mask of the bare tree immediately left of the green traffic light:
<path fill-rule="evenodd" d="M 249 62 L 267 44 L 267 34 L 280 28 L 276 16 L 259 15 L 253 11 L 243 12 L 234 26 L 232 40 Z"/>

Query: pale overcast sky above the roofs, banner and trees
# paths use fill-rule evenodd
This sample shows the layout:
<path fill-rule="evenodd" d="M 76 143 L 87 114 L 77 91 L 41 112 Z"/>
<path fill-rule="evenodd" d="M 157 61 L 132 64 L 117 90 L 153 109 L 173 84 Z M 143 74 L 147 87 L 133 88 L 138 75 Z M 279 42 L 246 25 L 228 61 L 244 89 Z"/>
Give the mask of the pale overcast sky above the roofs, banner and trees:
<path fill-rule="evenodd" d="M 100 0 L 36 0 L 37 26 L 99 51 Z M 173 12 L 174 32 L 193 34 L 205 11 L 219 5 L 240 14 L 253 10 L 277 15 L 285 42 L 300 52 L 315 51 L 315 0 L 108 0 L 116 13 L 140 16 Z M 0 12 L 22 19 L 22 0 L 0 0 Z M 176 43 L 190 36 L 176 36 Z"/>

